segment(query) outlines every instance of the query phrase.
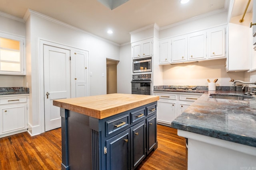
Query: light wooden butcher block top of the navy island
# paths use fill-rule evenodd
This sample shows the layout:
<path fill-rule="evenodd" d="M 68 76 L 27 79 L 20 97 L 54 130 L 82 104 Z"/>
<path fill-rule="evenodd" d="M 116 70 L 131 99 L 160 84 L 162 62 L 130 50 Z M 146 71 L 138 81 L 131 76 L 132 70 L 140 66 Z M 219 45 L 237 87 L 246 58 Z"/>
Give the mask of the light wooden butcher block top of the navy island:
<path fill-rule="evenodd" d="M 156 102 L 157 100 L 159 100 L 159 96 L 115 93 L 59 99 L 54 100 L 53 105 L 97 119 L 104 119 L 139 106 Z"/>

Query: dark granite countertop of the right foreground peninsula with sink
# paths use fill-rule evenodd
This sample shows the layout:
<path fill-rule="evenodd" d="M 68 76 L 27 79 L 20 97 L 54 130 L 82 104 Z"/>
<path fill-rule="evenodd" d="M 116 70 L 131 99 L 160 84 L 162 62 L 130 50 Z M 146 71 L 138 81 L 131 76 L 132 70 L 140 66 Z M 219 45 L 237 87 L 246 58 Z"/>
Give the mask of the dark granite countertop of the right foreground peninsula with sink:
<path fill-rule="evenodd" d="M 209 91 L 172 121 L 172 127 L 256 147 L 256 98 L 209 98 L 211 94 L 247 96 L 243 92 Z"/>

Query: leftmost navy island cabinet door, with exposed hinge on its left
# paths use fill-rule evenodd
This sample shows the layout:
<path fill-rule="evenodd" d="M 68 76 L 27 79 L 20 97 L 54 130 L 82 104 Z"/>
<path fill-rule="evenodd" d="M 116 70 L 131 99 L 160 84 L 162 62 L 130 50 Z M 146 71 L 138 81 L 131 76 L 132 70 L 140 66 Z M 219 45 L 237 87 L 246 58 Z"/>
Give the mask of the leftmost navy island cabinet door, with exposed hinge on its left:
<path fill-rule="evenodd" d="M 106 141 L 106 169 L 130 169 L 130 129 Z"/>

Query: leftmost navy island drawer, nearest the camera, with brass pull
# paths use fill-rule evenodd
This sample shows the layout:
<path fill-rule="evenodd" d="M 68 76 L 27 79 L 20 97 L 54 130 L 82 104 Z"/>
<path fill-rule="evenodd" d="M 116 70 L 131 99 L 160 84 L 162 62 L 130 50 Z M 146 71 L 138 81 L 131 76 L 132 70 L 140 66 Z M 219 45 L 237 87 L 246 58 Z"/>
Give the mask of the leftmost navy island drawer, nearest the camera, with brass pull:
<path fill-rule="evenodd" d="M 129 114 L 106 121 L 106 135 L 110 135 L 129 125 Z"/>

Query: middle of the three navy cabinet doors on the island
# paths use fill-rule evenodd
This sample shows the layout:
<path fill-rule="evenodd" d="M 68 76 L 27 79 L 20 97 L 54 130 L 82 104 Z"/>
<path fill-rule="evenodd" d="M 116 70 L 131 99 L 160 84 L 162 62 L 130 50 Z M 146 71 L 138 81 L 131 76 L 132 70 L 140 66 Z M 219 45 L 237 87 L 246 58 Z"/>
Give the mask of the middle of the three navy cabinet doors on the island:
<path fill-rule="evenodd" d="M 146 157 L 146 124 L 145 120 L 131 127 L 132 169 Z"/>

